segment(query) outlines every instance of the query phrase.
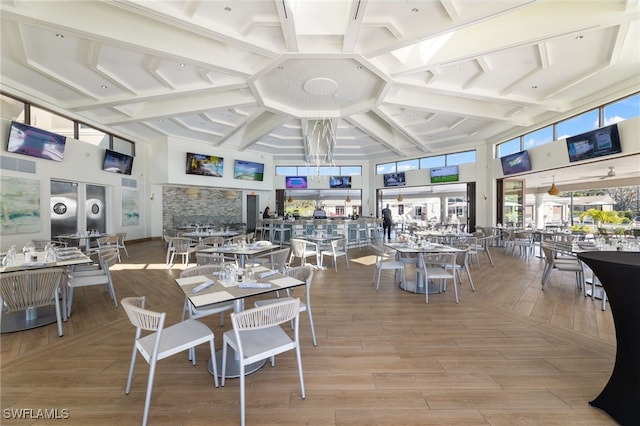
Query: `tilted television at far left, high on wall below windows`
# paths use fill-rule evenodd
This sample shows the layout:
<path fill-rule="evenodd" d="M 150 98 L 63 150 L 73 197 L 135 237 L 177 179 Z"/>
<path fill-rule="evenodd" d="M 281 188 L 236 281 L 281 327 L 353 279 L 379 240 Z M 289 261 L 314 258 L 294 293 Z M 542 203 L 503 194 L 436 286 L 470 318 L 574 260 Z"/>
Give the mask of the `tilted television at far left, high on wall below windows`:
<path fill-rule="evenodd" d="M 64 136 L 12 121 L 7 151 L 62 161 L 66 141 Z"/>

